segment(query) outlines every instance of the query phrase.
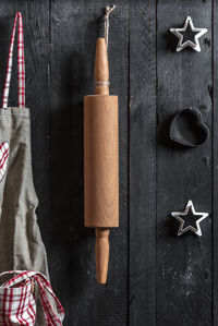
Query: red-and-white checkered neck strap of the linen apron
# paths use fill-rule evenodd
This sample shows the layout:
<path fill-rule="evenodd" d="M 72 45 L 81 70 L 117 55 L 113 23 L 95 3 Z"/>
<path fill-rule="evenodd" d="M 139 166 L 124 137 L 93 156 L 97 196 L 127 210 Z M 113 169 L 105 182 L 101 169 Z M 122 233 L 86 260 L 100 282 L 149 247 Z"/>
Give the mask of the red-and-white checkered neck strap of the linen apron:
<path fill-rule="evenodd" d="M 12 32 L 11 44 L 9 49 L 7 77 L 4 82 L 3 100 L 2 100 L 3 109 L 8 108 L 8 102 L 9 102 L 9 90 L 10 90 L 11 72 L 12 72 L 12 64 L 13 64 L 13 47 L 14 47 L 14 39 L 16 33 L 17 19 L 19 19 L 19 35 L 17 35 L 19 107 L 25 108 L 25 63 L 24 63 L 23 21 L 22 21 L 22 14 L 17 11 L 14 19 L 13 32 Z"/>

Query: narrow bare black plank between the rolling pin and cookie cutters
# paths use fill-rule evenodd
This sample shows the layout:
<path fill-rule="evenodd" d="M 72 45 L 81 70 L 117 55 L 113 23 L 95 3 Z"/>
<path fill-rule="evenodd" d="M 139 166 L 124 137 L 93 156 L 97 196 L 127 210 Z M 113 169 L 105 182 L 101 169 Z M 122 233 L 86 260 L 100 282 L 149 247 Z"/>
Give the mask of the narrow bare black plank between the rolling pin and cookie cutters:
<path fill-rule="evenodd" d="M 130 325 L 156 325 L 156 5 L 130 9 Z"/>

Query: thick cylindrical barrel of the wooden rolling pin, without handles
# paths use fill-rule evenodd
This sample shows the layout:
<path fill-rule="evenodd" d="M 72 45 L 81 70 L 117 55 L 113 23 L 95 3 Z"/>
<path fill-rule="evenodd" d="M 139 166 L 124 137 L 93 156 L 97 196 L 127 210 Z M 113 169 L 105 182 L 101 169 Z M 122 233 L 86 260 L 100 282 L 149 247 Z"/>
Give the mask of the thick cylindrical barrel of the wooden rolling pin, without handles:
<path fill-rule="evenodd" d="M 84 98 L 85 226 L 119 226 L 118 97 Z"/>

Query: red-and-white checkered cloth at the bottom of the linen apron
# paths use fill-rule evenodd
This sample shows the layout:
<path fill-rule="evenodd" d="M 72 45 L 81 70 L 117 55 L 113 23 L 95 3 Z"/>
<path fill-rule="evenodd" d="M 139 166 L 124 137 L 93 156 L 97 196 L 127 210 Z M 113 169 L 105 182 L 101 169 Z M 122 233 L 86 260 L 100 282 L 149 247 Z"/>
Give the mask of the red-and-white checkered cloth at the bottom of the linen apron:
<path fill-rule="evenodd" d="M 0 286 L 0 325 L 34 326 L 36 321 L 34 282 L 36 282 L 39 287 L 40 302 L 47 325 L 62 326 L 64 318 L 63 307 L 53 293 L 49 281 L 41 273 L 34 270 L 10 270 L 0 274 L 0 277 L 8 274 L 16 275 Z M 55 301 L 57 313 L 50 304 L 49 295 Z"/>

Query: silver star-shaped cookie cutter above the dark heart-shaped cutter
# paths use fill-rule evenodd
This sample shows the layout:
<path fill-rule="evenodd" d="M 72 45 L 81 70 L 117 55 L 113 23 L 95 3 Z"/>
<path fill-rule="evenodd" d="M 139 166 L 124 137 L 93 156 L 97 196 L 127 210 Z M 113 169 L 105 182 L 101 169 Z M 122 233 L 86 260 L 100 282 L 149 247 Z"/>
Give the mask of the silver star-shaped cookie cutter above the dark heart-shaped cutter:
<path fill-rule="evenodd" d="M 187 39 L 186 41 L 183 43 L 182 33 L 184 33 L 186 31 L 189 25 L 190 25 L 192 32 L 196 33 L 196 35 L 194 36 L 195 43 L 193 43 L 190 39 Z M 187 16 L 184 22 L 184 26 L 182 28 L 170 28 L 170 32 L 173 33 L 179 38 L 178 46 L 177 46 L 178 52 L 183 50 L 186 47 L 191 47 L 193 50 L 201 52 L 199 37 L 203 36 L 205 33 L 207 33 L 207 28 L 194 27 L 191 16 Z"/>

